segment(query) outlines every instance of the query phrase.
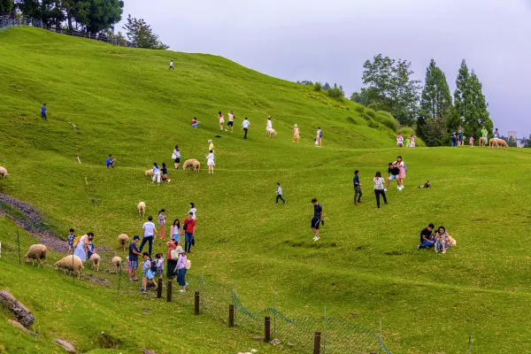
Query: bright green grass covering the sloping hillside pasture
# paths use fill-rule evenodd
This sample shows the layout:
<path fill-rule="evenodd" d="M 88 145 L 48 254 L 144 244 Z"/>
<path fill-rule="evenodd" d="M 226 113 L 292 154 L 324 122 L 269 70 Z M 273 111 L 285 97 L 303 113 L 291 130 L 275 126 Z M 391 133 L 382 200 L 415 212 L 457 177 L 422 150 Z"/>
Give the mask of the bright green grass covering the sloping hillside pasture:
<path fill-rule="evenodd" d="M 329 316 L 357 312 L 373 329 L 382 319 L 383 340 L 393 353 L 465 353 L 469 331 L 473 353 L 531 350 L 531 151 L 398 150 L 392 132 L 369 127 L 370 112 L 357 104 L 209 55 L 117 48 L 32 28 L 0 33 L 0 55 L 0 165 L 10 172 L 0 191 L 38 207 L 58 234 L 70 227 L 93 231 L 96 247 L 125 257 L 117 236 L 141 232 L 138 202 L 154 216 L 165 208 L 173 220 L 185 218 L 193 201 L 192 272 L 236 282 L 252 310 L 271 307 L 276 292 L 280 311 L 292 316 L 317 316 L 327 306 Z M 171 58 L 174 72 L 167 70 Z M 39 115 L 44 102 L 46 122 Z M 236 116 L 232 135 L 219 132 L 217 122 L 217 112 L 229 110 Z M 247 141 L 239 129 L 245 115 L 254 126 Z M 276 138 L 266 135 L 268 115 Z M 189 127 L 193 116 L 202 122 L 198 129 Z M 300 143 L 291 142 L 295 123 Z M 317 127 L 324 132 L 322 149 L 312 142 Z M 205 171 L 208 139 L 216 147 L 214 175 Z M 155 161 L 173 165 L 175 144 L 182 160 L 201 161 L 202 173 L 171 170 L 170 184 L 153 185 L 144 171 Z M 117 168 L 105 168 L 109 153 L 118 158 Z M 399 192 L 393 186 L 389 205 L 377 210 L 372 178 L 387 173 L 398 154 L 408 165 L 406 187 Z M 358 207 L 355 169 L 365 185 Z M 433 188 L 417 188 L 427 180 Z M 273 205 L 277 181 L 286 205 Z M 312 197 L 326 215 L 319 242 L 312 242 L 309 228 Z M 419 231 L 429 222 L 447 227 L 458 247 L 445 255 L 417 250 Z M 10 226 L 0 223 L 2 238 L 4 227 Z M 161 242 L 156 250 L 163 250 Z M 126 304 L 118 308 L 122 300 L 92 296 L 109 290 L 81 281 L 78 291 L 60 274 L 30 266 L 11 271 L 5 262 L 0 285 L 32 299 L 29 306 L 45 308 L 51 300 L 19 289 L 24 278 L 50 284 L 58 292 L 53 301 L 85 299 L 101 316 L 118 318 L 124 329 L 117 336 L 127 342 L 133 328 Z M 130 301 L 150 301 L 128 291 Z M 72 299 L 66 295 L 74 292 Z M 42 314 L 47 331 L 54 321 L 73 326 L 60 312 Z M 194 318 L 175 318 L 181 320 L 199 326 Z M 224 341 L 230 333 L 221 323 L 207 326 L 211 342 L 199 345 L 201 338 L 187 335 L 189 347 L 174 350 L 240 350 Z M 89 334 L 73 332 L 84 350 L 99 348 L 86 342 Z M 246 335 L 238 343 L 242 349 L 249 346 Z M 36 344 L 19 345 L 31 352 Z"/>

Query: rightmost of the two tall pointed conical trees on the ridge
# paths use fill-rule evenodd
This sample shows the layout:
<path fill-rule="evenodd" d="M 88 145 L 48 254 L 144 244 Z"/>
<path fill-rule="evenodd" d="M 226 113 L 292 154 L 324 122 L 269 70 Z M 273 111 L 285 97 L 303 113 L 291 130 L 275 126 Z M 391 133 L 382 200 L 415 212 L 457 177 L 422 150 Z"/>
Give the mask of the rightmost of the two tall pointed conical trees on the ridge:
<path fill-rule="evenodd" d="M 461 62 L 456 82 L 457 89 L 454 92 L 454 104 L 456 112 L 461 117 L 461 126 L 465 129 L 466 135 L 477 137 L 481 135 L 481 127 L 485 126 L 492 131 L 493 124 L 489 117 L 488 104 L 482 93 L 481 82 L 472 71 L 468 71 L 466 61 Z M 449 121 L 455 124 L 455 121 Z M 456 126 L 449 126 L 449 129 L 457 129 Z"/>

